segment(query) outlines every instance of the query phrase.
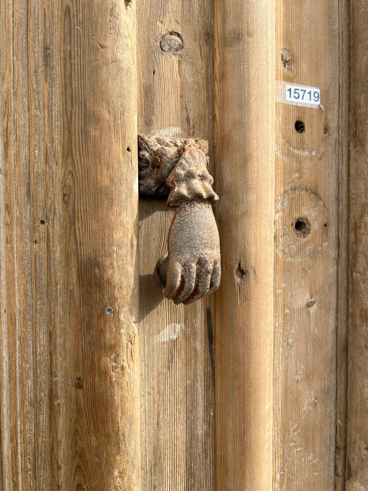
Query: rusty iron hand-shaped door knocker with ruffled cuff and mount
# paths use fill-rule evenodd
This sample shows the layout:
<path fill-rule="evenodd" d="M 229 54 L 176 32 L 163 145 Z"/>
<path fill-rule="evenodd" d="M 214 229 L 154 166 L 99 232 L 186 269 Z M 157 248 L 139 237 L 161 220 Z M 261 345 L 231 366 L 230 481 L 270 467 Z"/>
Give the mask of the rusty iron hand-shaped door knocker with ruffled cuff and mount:
<path fill-rule="evenodd" d="M 205 140 L 138 135 L 139 193 L 168 196 L 175 208 L 168 256 L 158 262 L 164 295 L 191 303 L 220 283 L 220 244 L 212 205 L 218 201 Z"/>

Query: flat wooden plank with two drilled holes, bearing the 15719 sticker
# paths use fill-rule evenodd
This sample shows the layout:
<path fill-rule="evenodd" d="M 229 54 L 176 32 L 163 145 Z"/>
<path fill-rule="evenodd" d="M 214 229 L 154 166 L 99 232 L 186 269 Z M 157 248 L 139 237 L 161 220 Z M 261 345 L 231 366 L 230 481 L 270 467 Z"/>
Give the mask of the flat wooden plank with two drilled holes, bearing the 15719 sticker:
<path fill-rule="evenodd" d="M 319 87 L 321 105 L 276 104 L 275 491 L 335 486 L 338 16 L 338 1 L 276 1 L 276 80 Z"/>

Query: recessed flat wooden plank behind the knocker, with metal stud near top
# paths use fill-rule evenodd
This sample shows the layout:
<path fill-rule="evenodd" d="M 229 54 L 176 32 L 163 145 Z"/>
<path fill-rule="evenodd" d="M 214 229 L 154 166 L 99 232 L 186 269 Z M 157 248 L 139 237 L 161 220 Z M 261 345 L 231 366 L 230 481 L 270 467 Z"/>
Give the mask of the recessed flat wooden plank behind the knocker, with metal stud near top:
<path fill-rule="evenodd" d="M 211 0 L 155 0 L 137 11 L 138 132 L 209 140 L 210 173 L 212 9 Z M 182 50 L 161 51 L 170 32 Z M 187 306 L 163 298 L 156 265 L 172 217 L 165 200 L 140 198 L 142 489 L 213 490 L 213 298 Z"/>

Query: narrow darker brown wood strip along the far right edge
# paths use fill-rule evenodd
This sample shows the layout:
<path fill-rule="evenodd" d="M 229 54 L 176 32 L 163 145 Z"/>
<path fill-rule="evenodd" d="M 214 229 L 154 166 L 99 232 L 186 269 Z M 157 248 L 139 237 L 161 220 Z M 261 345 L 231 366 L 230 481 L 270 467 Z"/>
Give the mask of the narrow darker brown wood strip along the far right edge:
<path fill-rule="evenodd" d="M 346 491 L 368 490 L 368 10 L 351 7 L 350 267 Z"/>

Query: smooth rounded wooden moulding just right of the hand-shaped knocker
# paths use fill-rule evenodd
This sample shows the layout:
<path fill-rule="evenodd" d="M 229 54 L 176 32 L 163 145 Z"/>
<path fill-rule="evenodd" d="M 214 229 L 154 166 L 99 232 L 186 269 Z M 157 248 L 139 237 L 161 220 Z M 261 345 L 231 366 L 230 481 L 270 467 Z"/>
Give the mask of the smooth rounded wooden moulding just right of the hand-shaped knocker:
<path fill-rule="evenodd" d="M 215 1 L 216 490 L 272 487 L 273 1 Z"/>

